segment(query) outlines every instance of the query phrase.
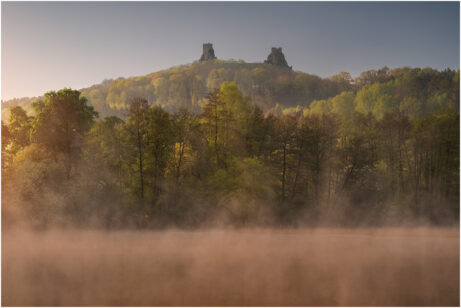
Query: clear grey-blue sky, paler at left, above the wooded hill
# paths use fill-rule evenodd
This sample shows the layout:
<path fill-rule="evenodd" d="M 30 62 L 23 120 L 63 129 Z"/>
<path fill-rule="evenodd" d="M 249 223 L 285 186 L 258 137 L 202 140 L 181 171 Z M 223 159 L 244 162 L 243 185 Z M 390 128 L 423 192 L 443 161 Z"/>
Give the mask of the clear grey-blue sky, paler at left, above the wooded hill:
<path fill-rule="evenodd" d="M 80 89 L 200 58 L 321 77 L 388 66 L 458 69 L 459 2 L 2 2 L 1 97 Z"/>

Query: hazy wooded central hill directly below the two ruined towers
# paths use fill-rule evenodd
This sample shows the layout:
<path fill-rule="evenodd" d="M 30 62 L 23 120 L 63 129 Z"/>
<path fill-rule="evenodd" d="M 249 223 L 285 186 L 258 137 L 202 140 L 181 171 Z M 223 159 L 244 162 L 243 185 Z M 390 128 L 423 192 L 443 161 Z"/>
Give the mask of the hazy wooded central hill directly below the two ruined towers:
<path fill-rule="evenodd" d="M 281 106 L 308 106 L 314 99 L 326 99 L 344 88 L 341 80 L 295 72 L 288 67 L 243 61 L 211 60 L 173 67 L 146 76 L 104 80 L 100 84 L 81 89 L 100 117 L 117 115 L 125 118 L 129 99 L 146 98 L 150 104 L 160 105 L 174 112 L 186 107 L 200 112 L 206 95 L 225 81 L 234 81 L 246 96 L 264 111 Z M 7 108 L 19 105 L 31 111 L 35 98 L 8 100 L 2 103 L 2 119 Z"/>

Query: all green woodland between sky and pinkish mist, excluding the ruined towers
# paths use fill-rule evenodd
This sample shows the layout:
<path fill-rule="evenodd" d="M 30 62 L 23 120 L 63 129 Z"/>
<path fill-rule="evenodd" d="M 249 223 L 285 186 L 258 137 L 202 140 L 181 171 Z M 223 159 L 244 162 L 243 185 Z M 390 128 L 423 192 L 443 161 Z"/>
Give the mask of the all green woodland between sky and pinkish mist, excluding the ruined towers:
<path fill-rule="evenodd" d="M 459 70 L 214 60 L 4 102 L 2 119 L 7 224 L 459 219 Z"/>

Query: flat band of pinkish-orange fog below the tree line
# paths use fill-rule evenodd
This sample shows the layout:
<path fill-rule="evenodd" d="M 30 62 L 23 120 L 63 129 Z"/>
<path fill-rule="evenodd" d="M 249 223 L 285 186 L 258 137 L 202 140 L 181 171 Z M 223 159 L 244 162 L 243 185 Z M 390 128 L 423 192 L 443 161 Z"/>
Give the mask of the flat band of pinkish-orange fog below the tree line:
<path fill-rule="evenodd" d="M 459 305 L 459 229 L 3 232 L 6 306 Z"/>

